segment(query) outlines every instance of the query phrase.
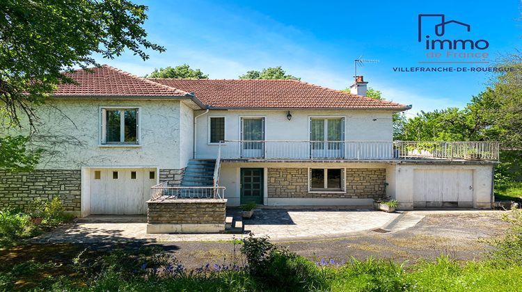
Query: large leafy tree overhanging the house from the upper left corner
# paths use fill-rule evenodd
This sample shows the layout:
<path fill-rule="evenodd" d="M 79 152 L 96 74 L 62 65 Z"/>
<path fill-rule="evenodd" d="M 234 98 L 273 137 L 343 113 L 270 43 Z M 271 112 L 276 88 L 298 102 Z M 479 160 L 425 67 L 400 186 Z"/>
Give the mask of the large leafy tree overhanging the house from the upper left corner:
<path fill-rule="evenodd" d="M 36 130 L 35 107 L 45 104 L 63 74 L 99 65 L 93 54 L 120 56 L 125 49 L 143 60 L 145 49 L 164 51 L 146 39 L 146 6 L 128 0 L 3 0 L 0 3 L 0 168 L 30 170 L 41 153 L 26 147 L 29 136 L 8 129 Z M 24 122 L 22 122 L 22 118 Z"/>

